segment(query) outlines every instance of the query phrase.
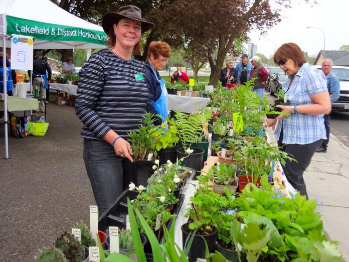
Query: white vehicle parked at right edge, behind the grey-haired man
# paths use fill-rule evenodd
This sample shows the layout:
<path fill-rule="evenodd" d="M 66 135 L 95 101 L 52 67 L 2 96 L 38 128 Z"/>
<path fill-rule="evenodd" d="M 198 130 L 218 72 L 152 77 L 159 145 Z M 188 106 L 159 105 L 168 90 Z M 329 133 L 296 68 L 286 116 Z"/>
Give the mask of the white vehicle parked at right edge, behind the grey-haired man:
<path fill-rule="evenodd" d="M 320 65 L 315 66 L 322 70 Z M 339 79 L 339 98 L 332 102 L 332 111 L 349 111 L 349 67 L 332 66 L 331 71 Z"/>

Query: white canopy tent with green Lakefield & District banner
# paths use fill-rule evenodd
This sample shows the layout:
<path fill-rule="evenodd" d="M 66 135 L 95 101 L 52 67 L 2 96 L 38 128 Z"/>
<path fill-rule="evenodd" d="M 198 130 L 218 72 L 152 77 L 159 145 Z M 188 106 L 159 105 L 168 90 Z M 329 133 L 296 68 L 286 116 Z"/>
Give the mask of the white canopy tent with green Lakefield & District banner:
<path fill-rule="evenodd" d="M 49 0 L 0 0 L 0 42 L 11 47 L 12 34 L 34 38 L 34 49 L 105 48 L 102 27 L 80 19 Z M 3 66 L 6 68 L 4 48 Z M 8 150 L 6 74 L 4 74 L 5 159 Z"/>

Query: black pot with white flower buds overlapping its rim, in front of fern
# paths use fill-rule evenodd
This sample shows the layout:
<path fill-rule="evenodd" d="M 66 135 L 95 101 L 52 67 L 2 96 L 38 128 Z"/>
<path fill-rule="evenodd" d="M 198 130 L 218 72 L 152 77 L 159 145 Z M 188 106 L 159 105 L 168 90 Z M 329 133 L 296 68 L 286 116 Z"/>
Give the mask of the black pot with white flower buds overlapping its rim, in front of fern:
<path fill-rule="evenodd" d="M 201 171 L 201 169 L 202 169 L 204 150 L 202 150 L 200 148 L 191 148 L 191 149 L 194 150 L 194 152 L 190 155 L 185 152 L 186 151 L 185 148 L 177 149 L 178 159 L 180 160 L 181 158 L 184 158 L 184 160 L 180 161 L 179 164 L 181 166 L 195 169 L 198 173 L 198 171 Z M 194 177 L 193 180 L 197 180 L 197 178 Z"/>

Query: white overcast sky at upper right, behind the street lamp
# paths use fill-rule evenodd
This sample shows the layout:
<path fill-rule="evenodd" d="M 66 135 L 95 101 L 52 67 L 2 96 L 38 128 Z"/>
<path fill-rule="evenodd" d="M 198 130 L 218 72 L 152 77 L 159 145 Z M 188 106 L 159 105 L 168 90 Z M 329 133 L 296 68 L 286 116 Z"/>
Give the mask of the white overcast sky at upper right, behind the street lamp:
<path fill-rule="evenodd" d="M 296 4 L 281 13 L 282 21 L 260 36 L 259 31 L 250 34 L 251 43 L 257 44 L 257 53 L 269 57 L 283 43 L 294 42 L 310 56 L 325 49 L 338 50 L 349 45 L 349 0 L 317 0 L 317 5 Z"/>

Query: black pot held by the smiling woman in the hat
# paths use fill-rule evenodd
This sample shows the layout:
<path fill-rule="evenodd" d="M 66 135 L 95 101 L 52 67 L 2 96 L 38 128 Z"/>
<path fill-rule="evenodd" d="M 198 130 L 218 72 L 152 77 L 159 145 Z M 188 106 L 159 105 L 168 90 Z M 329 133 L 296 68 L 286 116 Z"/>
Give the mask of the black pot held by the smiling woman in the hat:
<path fill-rule="evenodd" d="M 136 160 L 131 163 L 128 159 L 122 162 L 123 168 L 123 190 L 133 182 L 136 186 L 146 186 L 148 178 L 154 173 L 152 166 L 153 161 Z"/>

